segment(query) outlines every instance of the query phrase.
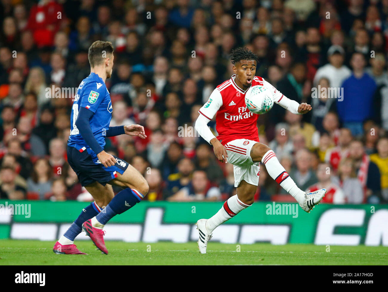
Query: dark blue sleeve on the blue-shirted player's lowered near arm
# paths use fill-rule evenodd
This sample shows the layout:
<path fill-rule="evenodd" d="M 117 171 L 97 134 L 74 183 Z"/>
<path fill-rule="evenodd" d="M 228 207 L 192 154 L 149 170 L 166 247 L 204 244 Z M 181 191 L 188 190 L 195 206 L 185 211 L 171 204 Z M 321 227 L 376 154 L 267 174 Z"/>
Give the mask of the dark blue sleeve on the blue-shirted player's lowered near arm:
<path fill-rule="evenodd" d="M 76 127 L 80 131 L 80 134 L 82 138 L 85 140 L 85 142 L 89 145 L 90 148 L 94 151 L 94 153 L 97 155 L 100 153 L 103 149 L 101 145 L 97 142 L 95 139 L 92 128 L 90 128 L 90 118 L 94 115 L 92 111 L 90 111 L 87 108 L 80 107 L 80 112 L 78 113 L 78 118 L 75 122 Z"/>

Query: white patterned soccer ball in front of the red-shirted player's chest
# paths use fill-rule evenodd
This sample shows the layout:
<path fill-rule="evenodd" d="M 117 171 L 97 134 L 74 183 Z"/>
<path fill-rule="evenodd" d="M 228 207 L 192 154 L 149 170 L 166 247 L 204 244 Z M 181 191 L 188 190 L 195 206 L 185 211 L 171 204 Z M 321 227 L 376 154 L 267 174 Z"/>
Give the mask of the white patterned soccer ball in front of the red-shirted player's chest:
<path fill-rule="evenodd" d="M 274 105 L 272 92 L 262 85 L 251 86 L 245 94 L 245 104 L 252 113 L 262 115 Z"/>

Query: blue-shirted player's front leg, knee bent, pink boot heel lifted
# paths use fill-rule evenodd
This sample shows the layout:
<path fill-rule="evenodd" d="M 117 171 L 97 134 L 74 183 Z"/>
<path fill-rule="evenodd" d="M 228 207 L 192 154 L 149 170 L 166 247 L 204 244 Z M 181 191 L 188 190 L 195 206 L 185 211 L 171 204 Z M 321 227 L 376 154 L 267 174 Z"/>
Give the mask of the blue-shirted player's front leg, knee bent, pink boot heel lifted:
<path fill-rule="evenodd" d="M 145 178 L 132 165 L 128 165 L 128 168 L 123 174 L 117 173 L 117 177 L 109 181 L 109 184 L 125 187 L 125 189 L 114 196 L 103 212 L 100 212 L 97 216 L 86 220 L 82 224 L 82 229 L 104 254 L 108 254 L 104 242 L 103 228 L 105 224 L 112 217 L 129 210 L 139 203 L 148 193 L 149 189 Z"/>

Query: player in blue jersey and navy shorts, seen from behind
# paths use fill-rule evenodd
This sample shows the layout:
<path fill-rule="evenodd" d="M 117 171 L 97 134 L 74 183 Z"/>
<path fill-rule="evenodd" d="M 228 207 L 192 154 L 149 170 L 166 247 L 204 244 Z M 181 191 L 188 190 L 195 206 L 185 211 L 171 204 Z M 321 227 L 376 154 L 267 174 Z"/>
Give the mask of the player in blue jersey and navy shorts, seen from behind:
<path fill-rule="evenodd" d="M 90 75 L 82 80 L 74 98 L 68 162 L 95 201 L 82 210 L 55 243 L 56 254 L 85 254 L 74 245 L 74 238 L 82 229 L 107 254 L 104 225 L 140 202 L 149 189 L 147 181 L 132 165 L 104 151 L 105 137 L 121 134 L 147 137 L 141 125 L 109 127 L 113 108 L 105 80 L 112 75 L 113 51 L 111 42 L 92 43 L 88 52 Z M 112 184 L 123 188 L 116 196 Z"/>

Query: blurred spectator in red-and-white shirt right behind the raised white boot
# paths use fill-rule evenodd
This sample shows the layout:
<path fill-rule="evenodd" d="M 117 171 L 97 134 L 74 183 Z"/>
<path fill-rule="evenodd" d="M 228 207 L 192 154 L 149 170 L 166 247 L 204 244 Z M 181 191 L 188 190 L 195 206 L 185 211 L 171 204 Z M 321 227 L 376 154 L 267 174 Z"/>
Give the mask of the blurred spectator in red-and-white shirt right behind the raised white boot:
<path fill-rule="evenodd" d="M 331 169 L 329 163 L 320 163 L 317 170 L 318 183 L 308 187 L 310 192 L 326 188 L 326 195 L 322 203 L 344 204 L 346 202 L 343 190 L 331 181 Z M 307 189 L 306 189 L 307 191 Z"/>

